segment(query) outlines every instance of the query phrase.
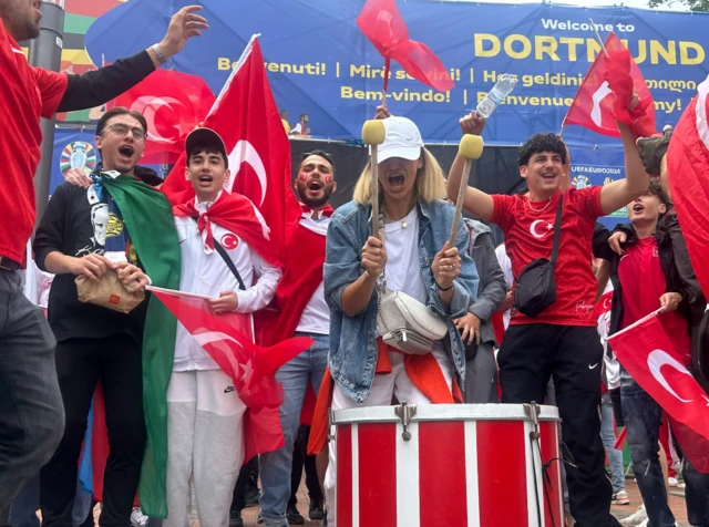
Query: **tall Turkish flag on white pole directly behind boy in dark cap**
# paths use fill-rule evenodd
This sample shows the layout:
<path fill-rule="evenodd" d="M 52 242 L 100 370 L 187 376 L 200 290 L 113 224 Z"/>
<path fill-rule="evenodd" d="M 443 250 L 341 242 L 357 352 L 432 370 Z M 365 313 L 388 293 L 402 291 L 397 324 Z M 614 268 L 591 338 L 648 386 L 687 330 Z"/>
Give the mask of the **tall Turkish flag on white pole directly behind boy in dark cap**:
<path fill-rule="evenodd" d="M 300 205 L 290 187 L 290 143 L 268 84 L 264 56 L 251 37 L 222 93 L 204 121 L 229 153 L 232 173 L 225 188 L 249 198 L 270 228 L 270 244 L 284 261 L 285 245 L 298 226 Z M 194 197 L 179 157 L 162 190 L 174 205 Z"/>

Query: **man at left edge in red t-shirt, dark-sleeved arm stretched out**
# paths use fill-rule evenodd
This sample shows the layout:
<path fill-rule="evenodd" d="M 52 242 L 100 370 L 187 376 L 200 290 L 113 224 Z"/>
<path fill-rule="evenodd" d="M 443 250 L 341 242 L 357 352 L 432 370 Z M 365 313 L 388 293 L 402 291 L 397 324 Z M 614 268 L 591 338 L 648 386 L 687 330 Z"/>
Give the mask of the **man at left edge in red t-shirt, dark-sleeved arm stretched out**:
<path fill-rule="evenodd" d="M 207 28 L 179 10 L 162 42 L 83 75 L 32 68 L 18 41 L 40 33 L 39 0 L 0 2 L 0 525 L 21 486 L 49 461 L 64 414 L 54 371 L 55 341 L 42 311 L 22 292 L 27 242 L 34 227 L 40 116 L 100 106 L 152 73 Z"/>

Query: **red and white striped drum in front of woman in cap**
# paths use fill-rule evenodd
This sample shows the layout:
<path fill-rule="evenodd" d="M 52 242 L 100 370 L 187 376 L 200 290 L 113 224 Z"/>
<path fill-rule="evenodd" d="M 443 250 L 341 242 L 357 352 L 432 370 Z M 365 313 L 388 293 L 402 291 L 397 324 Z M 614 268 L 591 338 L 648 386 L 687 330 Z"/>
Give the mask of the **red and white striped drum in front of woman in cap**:
<path fill-rule="evenodd" d="M 559 421 L 523 404 L 333 411 L 336 526 L 563 527 Z"/>

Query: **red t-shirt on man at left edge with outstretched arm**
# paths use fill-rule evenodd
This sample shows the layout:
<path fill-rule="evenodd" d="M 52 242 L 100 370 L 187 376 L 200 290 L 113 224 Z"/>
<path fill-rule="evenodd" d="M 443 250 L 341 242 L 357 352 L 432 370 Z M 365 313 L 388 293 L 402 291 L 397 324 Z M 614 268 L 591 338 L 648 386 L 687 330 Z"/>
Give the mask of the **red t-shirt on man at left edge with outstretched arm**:
<path fill-rule="evenodd" d="M 34 228 L 34 172 L 40 162 L 40 116 L 51 118 L 69 78 L 32 68 L 0 20 L 0 256 L 24 261 Z"/>

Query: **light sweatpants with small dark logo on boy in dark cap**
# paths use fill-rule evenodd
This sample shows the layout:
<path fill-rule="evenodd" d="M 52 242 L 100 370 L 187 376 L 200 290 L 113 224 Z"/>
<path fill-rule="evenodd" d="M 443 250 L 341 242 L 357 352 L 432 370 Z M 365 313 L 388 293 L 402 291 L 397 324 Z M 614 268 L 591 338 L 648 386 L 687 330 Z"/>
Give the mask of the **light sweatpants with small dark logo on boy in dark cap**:
<path fill-rule="evenodd" d="M 167 518 L 189 527 L 194 483 L 202 527 L 228 527 L 244 463 L 246 406 L 222 370 L 173 372 L 167 388 Z"/>

